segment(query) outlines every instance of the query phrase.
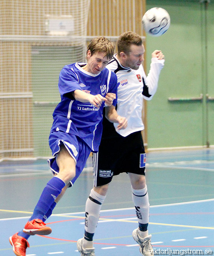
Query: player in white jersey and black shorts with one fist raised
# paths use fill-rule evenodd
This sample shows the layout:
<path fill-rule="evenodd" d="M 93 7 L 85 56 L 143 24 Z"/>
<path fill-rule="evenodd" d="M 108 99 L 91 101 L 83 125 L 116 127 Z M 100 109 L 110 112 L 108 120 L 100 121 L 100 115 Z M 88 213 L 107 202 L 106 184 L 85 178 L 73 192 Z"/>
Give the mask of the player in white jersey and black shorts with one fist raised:
<path fill-rule="evenodd" d="M 94 187 L 85 206 L 85 234 L 77 241 L 77 248 L 93 248 L 93 235 L 108 185 L 114 175 L 126 172 L 130 178 L 139 223 L 138 228 L 133 231 L 133 238 L 140 245 L 141 254 L 151 256 L 153 249 L 151 235 L 148 234 L 146 154 L 141 136 L 144 129 L 142 107 L 143 98 L 150 100 L 156 93 L 160 71 L 164 66 L 164 55 L 160 50 L 152 53 L 150 71 L 146 76 L 142 67 L 145 49 L 141 37 L 133 32 L 125 32 L 119 37 L 117 46 L 118 52 L 108 63 L 107 68 L 118 78 L 116 111 L 127 118 L 128 125 L 126 129 L 119 130 L 106 118 L 103 119 L 99 151 L 93 154 Z"/>

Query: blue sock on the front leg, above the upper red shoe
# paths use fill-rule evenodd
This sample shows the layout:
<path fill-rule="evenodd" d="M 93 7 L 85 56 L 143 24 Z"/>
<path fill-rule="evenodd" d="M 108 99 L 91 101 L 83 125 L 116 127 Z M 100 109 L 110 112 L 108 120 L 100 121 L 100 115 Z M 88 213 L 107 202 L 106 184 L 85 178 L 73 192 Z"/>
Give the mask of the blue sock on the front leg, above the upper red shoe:
<path fill-rule="evenodd" d="M 43 219 L 43 216 L 50 209 L 54 200 L 61 193 L 62 189 L 65 187 L 65 182 L 58 177 L 53 177 L 49 182 L 47 182 L 46 187 L 43 189 L 42 194 L 39 198 L 37 205 L 34 208 L 33 215 L 29 219 Z"/>

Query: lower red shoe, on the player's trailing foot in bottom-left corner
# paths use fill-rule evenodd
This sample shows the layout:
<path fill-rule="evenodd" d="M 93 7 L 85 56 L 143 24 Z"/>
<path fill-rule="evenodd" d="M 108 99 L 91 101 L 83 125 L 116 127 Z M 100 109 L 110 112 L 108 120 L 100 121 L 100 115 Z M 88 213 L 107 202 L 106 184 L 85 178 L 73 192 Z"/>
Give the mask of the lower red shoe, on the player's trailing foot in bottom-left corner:
<path fill-rule="evenodd" d="M 18 236 L 18 233 L 10 237 L 9 242 L 13 246 L 14 253 L 17 256 L 25 256 L 27 247 L 30 247 L 27 239 Z"/>

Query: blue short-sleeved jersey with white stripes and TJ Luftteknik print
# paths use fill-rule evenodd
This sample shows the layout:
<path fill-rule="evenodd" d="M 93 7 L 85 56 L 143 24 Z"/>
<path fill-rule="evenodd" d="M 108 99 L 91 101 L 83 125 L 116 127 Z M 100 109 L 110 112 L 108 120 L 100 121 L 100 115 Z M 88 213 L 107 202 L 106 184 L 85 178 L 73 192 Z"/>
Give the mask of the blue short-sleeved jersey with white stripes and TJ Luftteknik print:
<path fill-rule="evenodd" d="M 102 112 L 105 103 L 98 109 L 89 102 L 83 103 L 71 96 L 74 90 L 82 90 L 92 95 L 115 93 L 117 103 L 117 77 L 114 72 L 104 68 L 99 74 L 91 74 L 81 68 L 85 63 L 74 63 L 62 68 L 59 76 L 61 102 L 53 112 L 51 132 L 63 131 L 79 136 L 91 148 L 98 151 L 102 135 Z"/>

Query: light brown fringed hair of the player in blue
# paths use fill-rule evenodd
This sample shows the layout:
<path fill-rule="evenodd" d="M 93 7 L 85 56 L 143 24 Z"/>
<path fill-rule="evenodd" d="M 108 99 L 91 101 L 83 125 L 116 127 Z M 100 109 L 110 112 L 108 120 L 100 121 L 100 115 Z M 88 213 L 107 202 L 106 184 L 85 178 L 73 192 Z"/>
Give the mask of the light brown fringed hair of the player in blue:
<path fill-rule="evenodd" d="M 112 42 L 108 38 L 95 37 L 91 40 L 90 44 L 88 45 L 87 53 L 88 50 L 91 51 L 91 55 L 93 55 L 96 52 L 104 52 L 106 53 L 105 57 L 111 59 L 114 55 L 114 49 L 115 45 L 112 44 Z"/>

